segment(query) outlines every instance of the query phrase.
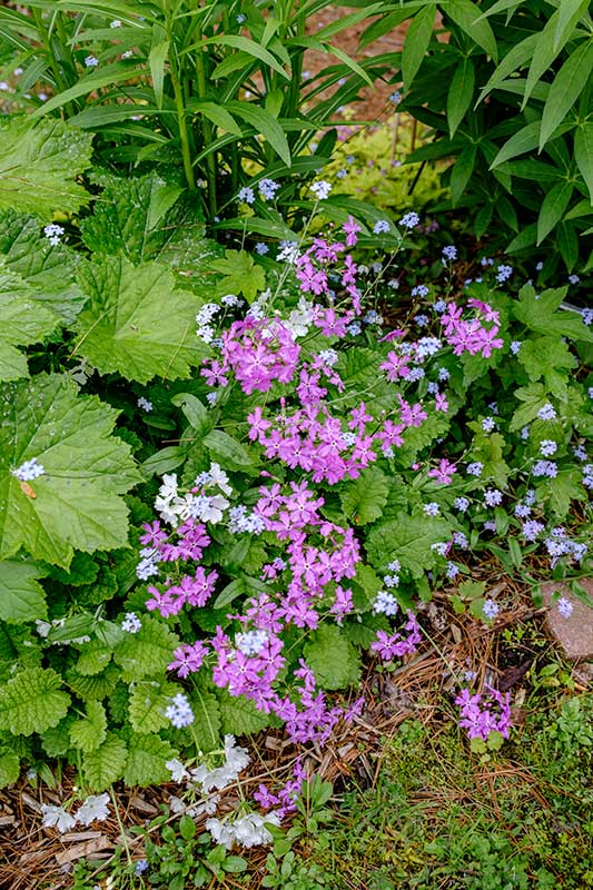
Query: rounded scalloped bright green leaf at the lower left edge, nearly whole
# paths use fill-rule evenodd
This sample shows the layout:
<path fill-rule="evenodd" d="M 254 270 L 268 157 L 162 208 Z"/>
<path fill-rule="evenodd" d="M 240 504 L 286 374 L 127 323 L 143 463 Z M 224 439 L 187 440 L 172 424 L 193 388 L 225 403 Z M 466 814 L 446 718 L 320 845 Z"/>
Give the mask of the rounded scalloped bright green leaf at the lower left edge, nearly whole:
<path fill-rule="evenodd" d="M 51 669 L 27 668 L 0 686 L 0 725 L 13 735 L 31 735 L 57 726 L 70 696 Z"/>

